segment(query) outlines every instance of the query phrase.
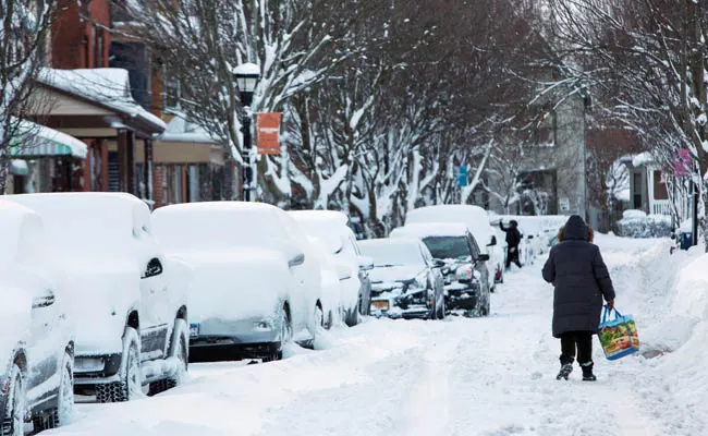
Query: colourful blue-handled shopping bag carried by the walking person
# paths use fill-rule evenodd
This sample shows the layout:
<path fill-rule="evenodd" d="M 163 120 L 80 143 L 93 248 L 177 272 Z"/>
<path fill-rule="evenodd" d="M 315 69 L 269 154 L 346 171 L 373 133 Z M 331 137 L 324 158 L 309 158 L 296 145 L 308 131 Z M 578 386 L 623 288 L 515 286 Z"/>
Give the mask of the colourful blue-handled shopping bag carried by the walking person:
<path fill-rule="evenodd" d="M 639 336 L 632 315 L 623 316 L 617 308 L 614 318 L 610 318 L 612 308 L 605 306 L 598 337 L 602 344 L 605 356 L 614 361 L 639 351 Z"/>

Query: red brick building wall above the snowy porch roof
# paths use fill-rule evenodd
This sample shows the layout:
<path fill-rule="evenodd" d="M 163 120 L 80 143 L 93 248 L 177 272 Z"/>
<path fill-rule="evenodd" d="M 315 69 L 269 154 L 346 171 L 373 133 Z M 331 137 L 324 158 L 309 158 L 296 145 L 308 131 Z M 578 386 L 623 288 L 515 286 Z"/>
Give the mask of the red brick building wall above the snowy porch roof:
<path fill-rule="evenodd" d="M 78 3 L 76 0 L 59 1 L 51 27 L 51 64 L 66 70 L 108 66 L 110 0 Z M 100 36 L 102 50 L 97 50 Z"/>

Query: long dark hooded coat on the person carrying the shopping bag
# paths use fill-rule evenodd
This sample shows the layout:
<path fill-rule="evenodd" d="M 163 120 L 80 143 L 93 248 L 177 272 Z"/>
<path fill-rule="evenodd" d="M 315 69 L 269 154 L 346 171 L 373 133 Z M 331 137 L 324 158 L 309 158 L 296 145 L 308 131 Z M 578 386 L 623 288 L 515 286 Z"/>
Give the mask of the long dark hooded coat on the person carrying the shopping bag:
<path fill-rule="evenodd" d="M 610 272 L 600 249 L 587 241 L 588 227 L 577 215 L 563 228 L 563 240 L 551 249 L 544 280 L 556 287 L 553 295 L 553 336 L 566 331 L 597 332 L 602 298 L 614 300 Z"/>

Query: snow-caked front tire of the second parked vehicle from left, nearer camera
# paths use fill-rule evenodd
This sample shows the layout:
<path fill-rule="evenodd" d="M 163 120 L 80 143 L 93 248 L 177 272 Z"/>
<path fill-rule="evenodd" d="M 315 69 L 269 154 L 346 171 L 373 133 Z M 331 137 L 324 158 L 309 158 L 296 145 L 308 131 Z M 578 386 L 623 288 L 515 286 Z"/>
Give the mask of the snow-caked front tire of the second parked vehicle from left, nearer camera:
<path fill-rule="evenodd" d="M 96 385 L 97 402 L 124 402 L 137 397 L 142 390 L 143 376 L 141 373 L 141 352 L 137 344 L 137 331 L 127 327 L 125 336 L 127 344 L 123 351 L 123 365 L 120 371 L 120 382 Z"/>

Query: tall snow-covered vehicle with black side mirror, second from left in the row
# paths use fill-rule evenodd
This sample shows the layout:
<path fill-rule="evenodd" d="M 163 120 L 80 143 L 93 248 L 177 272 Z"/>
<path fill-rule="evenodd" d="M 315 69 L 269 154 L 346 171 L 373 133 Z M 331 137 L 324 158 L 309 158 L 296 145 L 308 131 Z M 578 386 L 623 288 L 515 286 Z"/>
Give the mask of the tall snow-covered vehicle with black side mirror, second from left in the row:
<path fill-rule="evenodd" d="M 176 385 L 188 359 L 188 269 L 158 246 L 147 205 L 122 193 L 5 198 L 40 214 L 60 253 L 76 326 L 74 390 L 115 402 Z"/>

